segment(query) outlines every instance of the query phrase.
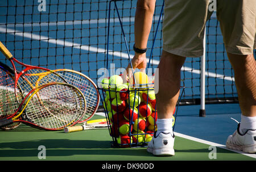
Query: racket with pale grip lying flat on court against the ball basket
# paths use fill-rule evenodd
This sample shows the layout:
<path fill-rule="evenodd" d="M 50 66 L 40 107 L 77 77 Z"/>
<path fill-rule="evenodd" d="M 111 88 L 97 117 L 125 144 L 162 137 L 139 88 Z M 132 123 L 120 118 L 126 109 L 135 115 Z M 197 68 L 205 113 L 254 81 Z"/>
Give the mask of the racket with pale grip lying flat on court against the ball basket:
<path fill-rule="evenodd" d="M 73 127 L 65 127 L 64 132 L 76 132 L 83 131 L 88 129 L 105 129 L 108 128 L 108 122 L 106 119 L 96 119 L 96 120 L 88 120 L 85 121 L 83 125 L 73 126 Z"/>

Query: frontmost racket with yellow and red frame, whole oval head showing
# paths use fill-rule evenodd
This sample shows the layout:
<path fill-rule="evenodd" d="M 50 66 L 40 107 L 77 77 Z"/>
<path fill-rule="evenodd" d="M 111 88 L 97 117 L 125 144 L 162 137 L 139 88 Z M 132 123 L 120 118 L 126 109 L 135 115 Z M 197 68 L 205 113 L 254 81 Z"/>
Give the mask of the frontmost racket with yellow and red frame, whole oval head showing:
<path fill-rule="evenodd" d="M 22 115 L 25 109 L 26 115 Z M 0 120 L 0 127 L 21 122 L 56 131 L 75 125 L 85 111 L 86 100 L 77 87 L 67 83 L 47 83 L 32 89 L 13 115 Z M 18 119 L 19 116 L 22 116 L 22 120 Z"/>

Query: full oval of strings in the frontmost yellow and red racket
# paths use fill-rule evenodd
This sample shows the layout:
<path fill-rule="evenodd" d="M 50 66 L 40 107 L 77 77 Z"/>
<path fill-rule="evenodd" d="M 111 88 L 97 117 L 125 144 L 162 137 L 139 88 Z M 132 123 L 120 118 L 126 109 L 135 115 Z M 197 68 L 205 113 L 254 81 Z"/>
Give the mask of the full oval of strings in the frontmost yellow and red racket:
<path fill-rule="evenodd" d="M 79 92 L 67 85 L 49 85 L 38 90 L 27 106 L 27 118 L 44 128 L 62 128 L 79 120 L 86 104 Z"/>

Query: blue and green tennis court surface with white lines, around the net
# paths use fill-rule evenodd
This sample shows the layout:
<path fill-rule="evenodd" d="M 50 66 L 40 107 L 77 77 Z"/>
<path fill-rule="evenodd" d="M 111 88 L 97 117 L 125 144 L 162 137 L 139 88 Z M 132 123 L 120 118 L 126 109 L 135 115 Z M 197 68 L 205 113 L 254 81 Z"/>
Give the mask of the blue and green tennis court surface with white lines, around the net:
<path fill-rule="evenodd" d="M 136 3 L 117 1 L 130 50 L 134 44 Z M 98 78 L 103 75 L 100 69 L 107 68 L 111 75 L 128 65 L 129 54 L 113 2 L 108 22 L 109 4 L 110 1 L 103 0 L 51 0 L 46 1 L 45 9 L 42 7 L 39 10 L 41 3 L 38 1 L 5 1 L 0 5 L 0 41 L 25 64 L 77 70 L 88 75 L 97 85 Z M 148 67 L 153 72 L 162 51 L 162 4 L 163 1 L 156 2 L 148 41 L 148 60 L 151 57 Z M 240 121 L 241 110 L 234 73 L 226 57 L 215 12 L 207 23 L 206 35 L 207 115 L 199 117 L 201 60 L 187 58 L 181 74 L 185 89 L 177 111 L 174 157 L 154 157 L 146 152 L 146 148 L 114 148 L 108 129 L 64 133 L 43 131 L 22 124 L 10 131 L 0 131 L 0 160 L 255 161 L 256 154 L 225 148 L 227 137 L 237 128 L 237 123 L 230 118 Z M 129 53 L 132 58 L 134 52 Z M 9 64 L 3 54 L 0 60 Z M 105 118 L 102 104 L 97 114 L 93 119 Z M 46 159 L 40 159 L 40 145 L 46 148 Z"/>

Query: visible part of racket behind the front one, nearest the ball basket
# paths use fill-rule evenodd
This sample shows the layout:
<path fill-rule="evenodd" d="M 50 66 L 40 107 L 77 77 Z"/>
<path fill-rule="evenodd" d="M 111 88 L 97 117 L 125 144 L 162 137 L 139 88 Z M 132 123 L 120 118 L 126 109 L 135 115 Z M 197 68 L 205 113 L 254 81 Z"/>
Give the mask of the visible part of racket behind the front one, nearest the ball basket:
<path fill-rule="evenodd" d="M 84 94 L 87 109 L 84 117 L 79 121 L 79 123 L 84 123 L 92 118 L 100 104 L 100 94 L 98 93 L 97 86 L 92 79 L 85 74 L 70 69 L 56 69 L 52 70 L 52 72 L 63 78 L 65 82 L 79 88 L 82 94 Z M 51 74 L 51 72 L 40 74 L 41 79 L 44 80 L 44 76 L 48 77 L 48 74 Z"/>

